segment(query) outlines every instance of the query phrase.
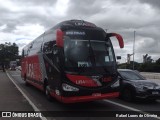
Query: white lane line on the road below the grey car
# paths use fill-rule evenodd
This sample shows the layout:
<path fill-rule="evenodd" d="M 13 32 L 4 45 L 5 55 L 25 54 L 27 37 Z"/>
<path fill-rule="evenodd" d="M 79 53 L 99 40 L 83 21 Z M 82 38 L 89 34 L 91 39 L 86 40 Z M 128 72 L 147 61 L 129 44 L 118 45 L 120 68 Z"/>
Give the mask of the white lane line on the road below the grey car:
<path fill-rule="evenodd" d="M 111 100 L 104 100 L 104 101 L 108 102 L 108 103 L 111 103 L 111 104 L 114 104 L 114 105 L 117 105 L 117 106 L 120 106 L 120 107 L 123 107 L 123 108 L 126 108 L 126 109 L 131 110 L 131 111 L 139 112 L 139 113 L 142 113 L 142 114 L 151 114 L 151 113 L 147 113 L 147 112 L 144 112 L 142 110 L 132 108 L 132 107 L 129 107 L 129 106 L 126 106 L 126 105 L 123 105 L 123 104 L 120 104 L 120 103 L 117 103 L 117 102 L 114 102 L 114 101 L 111 101 Z M 152 117 L 152 118 L 160 120 L 160 117 Z"/>

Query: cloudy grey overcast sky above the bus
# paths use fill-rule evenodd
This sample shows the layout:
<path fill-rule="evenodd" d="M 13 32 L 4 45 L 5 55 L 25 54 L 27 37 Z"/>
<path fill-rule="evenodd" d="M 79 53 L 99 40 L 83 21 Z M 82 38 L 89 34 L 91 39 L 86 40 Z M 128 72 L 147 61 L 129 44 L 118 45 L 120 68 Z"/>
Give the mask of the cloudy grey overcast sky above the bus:
<path fill-rule="evenodd" d="M 120 49 L 112 39 L 116 55 L 133 53 L 135 61 L 142 56 L 160 58 L 160 0 L 0 0 L 0 44 L 15 42 L 19 51 L 57 23 L 83 19 L 123 36 Z"/>

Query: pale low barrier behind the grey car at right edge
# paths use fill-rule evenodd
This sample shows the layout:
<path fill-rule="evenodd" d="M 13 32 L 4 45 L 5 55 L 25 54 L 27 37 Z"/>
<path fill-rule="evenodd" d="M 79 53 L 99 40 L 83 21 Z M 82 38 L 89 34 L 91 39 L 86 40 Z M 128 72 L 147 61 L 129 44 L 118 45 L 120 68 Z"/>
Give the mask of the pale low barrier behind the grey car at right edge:
<path fill-rule="evenodd" d="M 160 79 L 160 73 L 141 72 L 140 74 L 148 79 Z"/>

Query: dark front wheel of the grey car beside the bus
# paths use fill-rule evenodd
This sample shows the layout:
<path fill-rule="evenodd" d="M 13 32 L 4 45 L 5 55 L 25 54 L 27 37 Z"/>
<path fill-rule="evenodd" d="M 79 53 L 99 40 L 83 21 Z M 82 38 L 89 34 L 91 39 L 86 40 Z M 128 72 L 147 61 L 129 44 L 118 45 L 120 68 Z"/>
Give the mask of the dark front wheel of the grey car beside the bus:
<path fill-rule="evenodd" d="M 133 90 L 131 89 L 124 89 L 123 92 L 122 92 L 122 98 L 125 100 L 125 101 L 133 101 L 134 100 L 134 94 L 133 94 Z"/>

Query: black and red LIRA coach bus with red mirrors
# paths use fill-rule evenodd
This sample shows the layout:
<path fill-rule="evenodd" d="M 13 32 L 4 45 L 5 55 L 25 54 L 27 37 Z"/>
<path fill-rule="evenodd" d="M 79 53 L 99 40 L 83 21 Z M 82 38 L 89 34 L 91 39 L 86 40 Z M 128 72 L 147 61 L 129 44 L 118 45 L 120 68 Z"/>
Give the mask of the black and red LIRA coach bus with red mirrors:
<path fill-rule="evenodd" d="M 86 102 L 119 96 L 116 58 L 110 37 L 123 38 L 84 20 L 63 21 L 22 50 L 25 84 L 44 91 L 48 100 Z"/>

